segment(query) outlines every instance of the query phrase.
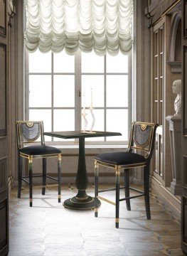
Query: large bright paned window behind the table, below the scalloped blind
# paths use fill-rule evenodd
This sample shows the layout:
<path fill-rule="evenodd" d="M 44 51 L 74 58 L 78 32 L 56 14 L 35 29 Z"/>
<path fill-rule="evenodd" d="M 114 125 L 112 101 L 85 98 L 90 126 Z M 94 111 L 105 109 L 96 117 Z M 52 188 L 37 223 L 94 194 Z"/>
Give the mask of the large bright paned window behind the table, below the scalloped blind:
<path fill-rule="evenodd" d="M 97 56 L 95 53 L 26 52 L 26 119 L 43 120 L 46 132 L 83 129 L 82 111 L 87 113 L 87 129 L 121 132 L 122 137 L 86 139 L 87 144 L 125 144 L 131 123 L 131 58 Z M 85 96 L 84 96 L 85 95 Z M 92 95 L 92 96 L 91 96 Z M 46 137 L 58 142 L 58 138 Z M 61 140 L 62 143 L 73 143 Z"/>

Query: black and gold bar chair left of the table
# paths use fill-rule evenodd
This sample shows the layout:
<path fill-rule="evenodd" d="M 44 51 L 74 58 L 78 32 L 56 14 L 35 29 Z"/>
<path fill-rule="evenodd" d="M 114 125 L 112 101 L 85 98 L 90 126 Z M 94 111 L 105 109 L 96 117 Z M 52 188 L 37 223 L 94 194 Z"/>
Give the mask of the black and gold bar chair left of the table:
<path fill-rule="evenodd" d="M 58 181 L 58 203 L 61 198 L 61 151 L 53 146 L 46 146 L 43 136 L 43 122 L 16 121 L 16 133 L 18 142 L 18 198 L 21 198 L 22 181 L 29 184 L 30 206 L 33 206 L 33 177 L 43 177 L 42 194 L 46 192 L 46 178 Z M 29 146 L 29 144 L 36 144 Z M 53 178 L 46 174 L 46 159 L 48 157 L 58 158 L 58 178 Z M 29 176 L 22 176 L 23 158 L 28 159 Z M 33 175 L 32 163 L 33 159 L 43 159 L 43 174 Z M 26 179 L 28 178 L 28 180 Z"/>

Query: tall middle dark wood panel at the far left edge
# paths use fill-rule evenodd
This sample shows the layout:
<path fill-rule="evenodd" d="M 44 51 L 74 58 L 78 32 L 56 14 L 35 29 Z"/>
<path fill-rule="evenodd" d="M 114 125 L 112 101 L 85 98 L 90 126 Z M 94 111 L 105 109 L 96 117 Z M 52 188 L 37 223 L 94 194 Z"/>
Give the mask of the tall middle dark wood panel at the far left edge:
<path fill-rule="evenodd" d="M 1 0 L 0 0 L 1 1 Z M 6 136 L 6 45 L 0 43 L 0 137 Z"/>

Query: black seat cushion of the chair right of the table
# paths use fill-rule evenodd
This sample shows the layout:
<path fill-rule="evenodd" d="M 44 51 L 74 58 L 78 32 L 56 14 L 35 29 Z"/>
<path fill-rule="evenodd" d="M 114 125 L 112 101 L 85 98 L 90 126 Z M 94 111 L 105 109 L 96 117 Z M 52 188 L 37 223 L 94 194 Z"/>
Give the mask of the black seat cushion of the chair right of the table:
<path fill-rule="evenodd" d="M 105 162 L 107 164 L 114 165 L 129 165 L 129 164 L 139 164 L 145 163 L 146 159 L 144 156 L 136 153 L 130 152 L 111 152 L 98 154 L 95 156 L 95 159 L 98 161 Z"/>

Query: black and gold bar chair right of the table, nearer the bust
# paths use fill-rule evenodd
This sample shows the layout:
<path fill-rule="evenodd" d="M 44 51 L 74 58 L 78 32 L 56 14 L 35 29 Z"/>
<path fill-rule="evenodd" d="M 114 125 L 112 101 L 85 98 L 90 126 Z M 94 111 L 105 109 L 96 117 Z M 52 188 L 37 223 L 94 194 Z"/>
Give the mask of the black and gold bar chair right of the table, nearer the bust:
<path fill-rule="evenodd" d="M 131 210 L 130 199 L 144 196 L 146 206 L 146 217 L 151 218 L 150 204 L 149 204 L 149 164 L 151 156 L 154 151 L 154 140 L 156 134 L 156 127 L 158 124 L 133 122 L 129 146 L 126 152 L 112 152 L 106 154 L 99 154 L 95 157 L 95 217 L 97 217 L 97 198 L 112 203 L 116 207 L 115 226 L 119 228 L 119 202 L 126 201 L 127 210 Z M 144 155 L 133 153 L 132 150 L 137 149 L 144 151 Z M 115 170 L 116 173 L 116 188 L 98 191 L 98 176 L 99 165 L 108 166 Z M 129 187 L 129 169 L 144 167 L 144 191 L 139 191 L 135 188 Z M 124 169 L 124 186 L 119 186 L 120 172 Z M 119 198 L 119 189 L 124 188 L 125 198 Z M 129 190 L 140 193 L 137 196 L 129 196 Z M 98 196 L 98 193 L 106 191 L 116 191 L 116 201 L 112 202 L 106 198 Z"/>

